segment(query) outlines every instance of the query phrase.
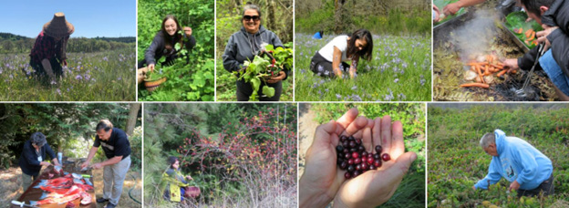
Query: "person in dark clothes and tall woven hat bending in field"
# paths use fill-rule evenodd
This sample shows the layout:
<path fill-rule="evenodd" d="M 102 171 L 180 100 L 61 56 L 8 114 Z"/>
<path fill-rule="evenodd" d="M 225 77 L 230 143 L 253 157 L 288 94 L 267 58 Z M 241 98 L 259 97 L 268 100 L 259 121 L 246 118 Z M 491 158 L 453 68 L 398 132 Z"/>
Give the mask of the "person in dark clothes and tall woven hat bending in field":
<path fill-rule="evenodd" d="M 75 27 L 67 22 L 63 13 L 56 13 L 53 19 L 44 25 L 29 55 L 30 67 L 36 70 L 37 78 L 45 83 L 55 84 L 57 78 L 63 75 L 61 65 L 67 66 L 67 40 L 74 31 Z"/>

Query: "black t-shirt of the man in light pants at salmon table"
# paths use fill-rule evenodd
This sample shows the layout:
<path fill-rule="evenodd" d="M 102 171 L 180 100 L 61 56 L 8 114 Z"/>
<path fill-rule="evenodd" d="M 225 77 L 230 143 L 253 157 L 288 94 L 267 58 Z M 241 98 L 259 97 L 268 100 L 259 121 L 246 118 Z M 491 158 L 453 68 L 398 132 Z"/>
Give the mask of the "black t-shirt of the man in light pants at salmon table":
<path fill-rule="evenodd" d="M 129 136 L 127 136 L 124 130 L 118 128 L 113 128 L 109 140 L 100 140 L 96 136 L 93 147 L 98 148 L 99 146 L 103 146 L 103 151 L 105 151 L 105 156 L 108 159 L 122 156 L 122 160 L 124 160 L 130 155 Z"/>

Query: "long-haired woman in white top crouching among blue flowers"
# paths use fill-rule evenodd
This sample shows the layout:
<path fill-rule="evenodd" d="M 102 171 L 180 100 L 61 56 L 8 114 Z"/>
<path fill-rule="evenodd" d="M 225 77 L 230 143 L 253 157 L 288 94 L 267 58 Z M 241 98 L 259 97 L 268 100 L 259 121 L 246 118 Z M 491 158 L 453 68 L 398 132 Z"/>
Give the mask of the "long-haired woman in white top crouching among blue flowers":
<path fill-rule="evenodd" d="M 325 47 L 318 50 L 310 61 L 310 69 L 323 77 L 342 78 L 349 69 L 350 78 L 356 76 L 360 57 L 371 60 L 373 39 L 367 29 L 358 29 L 351 36 L 336 36 Z M 350 61 L 348 65 L 345 61 Z"/>

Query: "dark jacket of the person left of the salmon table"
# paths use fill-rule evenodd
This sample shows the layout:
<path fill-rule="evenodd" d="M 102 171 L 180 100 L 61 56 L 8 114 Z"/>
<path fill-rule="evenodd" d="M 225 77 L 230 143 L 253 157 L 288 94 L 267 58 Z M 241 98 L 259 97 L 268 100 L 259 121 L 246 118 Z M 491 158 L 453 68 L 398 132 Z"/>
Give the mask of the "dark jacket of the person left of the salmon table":
<path fill-rule="evenodd" d="M 36 148 L 32 146 L 32 141 L 26 140 L 26 143 L 24 143 L 24 150 L 22 151 L 20 161 L 18 162 L 22 172 L 27 175 L 37 175 L 41 170 L 41 165 L 39 164 L 40 161 L 37 161 L 37 157 L 41 156 L 42 161 L 47 161 L 46 153 L 51 157 L 51 160 L 56 158 L 56 152 L 51 150 L 47 143 L 39 149 L 39 154 L 37 154 Z"/>

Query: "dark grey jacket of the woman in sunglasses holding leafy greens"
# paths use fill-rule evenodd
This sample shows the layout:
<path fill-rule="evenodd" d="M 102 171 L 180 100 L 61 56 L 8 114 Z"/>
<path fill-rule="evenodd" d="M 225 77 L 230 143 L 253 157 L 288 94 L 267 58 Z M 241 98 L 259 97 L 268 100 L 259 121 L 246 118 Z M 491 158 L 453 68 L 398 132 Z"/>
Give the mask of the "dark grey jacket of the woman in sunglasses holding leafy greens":
<path fill-rule="evenodd" d="M 240 31 L 229 37 L 222 55 L 223 68 L 229 72 L 243 68 L 243 63 L 246 60 L 253 61 L 254 55 L 258 54 L 263 43 L 271 44 L 274 47 L 283 47 L 281 39 L 264 26 L 259 26 L 259 31 L 254 35 L 249 34 L 242 26 Z M 286 77 L 283 80 L 288 78 L 289 70 L 288 68 L 285 69 Z"/>

